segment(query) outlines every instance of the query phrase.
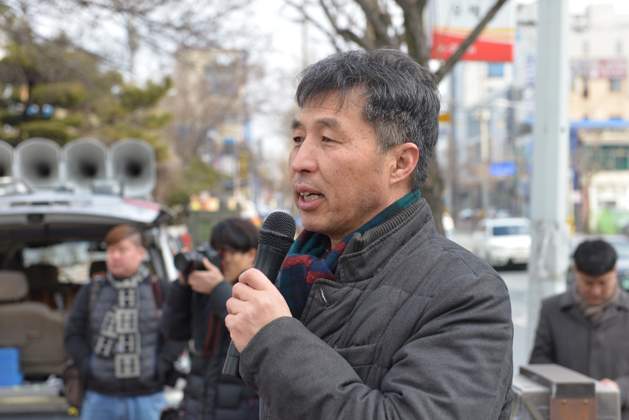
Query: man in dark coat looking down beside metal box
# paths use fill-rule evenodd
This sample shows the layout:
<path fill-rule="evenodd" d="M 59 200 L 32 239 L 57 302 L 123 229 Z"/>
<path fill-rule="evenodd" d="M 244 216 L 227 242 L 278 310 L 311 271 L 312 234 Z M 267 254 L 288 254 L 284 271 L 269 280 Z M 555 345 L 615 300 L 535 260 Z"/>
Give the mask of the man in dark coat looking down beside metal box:
<path fill-rule="evenodd" d="M 574 251 L 576 281 L 542 302 L 531 363 L 557 363 L 620 389 L 629 420 L 629 293 L 616 280 L 616 251 L 585 241 Z"/>

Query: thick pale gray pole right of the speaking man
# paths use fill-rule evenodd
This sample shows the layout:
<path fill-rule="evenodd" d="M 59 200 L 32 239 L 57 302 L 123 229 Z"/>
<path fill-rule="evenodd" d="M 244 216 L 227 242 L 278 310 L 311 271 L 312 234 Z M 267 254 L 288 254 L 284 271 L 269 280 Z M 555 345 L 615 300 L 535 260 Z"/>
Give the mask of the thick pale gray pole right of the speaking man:
<path fill-rule="evenodd" d="M 568 0 L 540 0 L 535 68 L 535 125 L 528 264 L 528 327 L 532 349 L 543 298 L 565 291 L 568 226 Z"/>

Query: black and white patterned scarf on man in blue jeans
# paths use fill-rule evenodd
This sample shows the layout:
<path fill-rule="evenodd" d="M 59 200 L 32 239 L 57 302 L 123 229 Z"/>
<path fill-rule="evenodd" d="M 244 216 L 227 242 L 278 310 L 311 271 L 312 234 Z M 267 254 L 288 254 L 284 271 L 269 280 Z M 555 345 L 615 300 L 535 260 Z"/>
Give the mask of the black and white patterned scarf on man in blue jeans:
<path fill-rule="evenodd" d="M 149 275 L 147 266 L 140 265 L 131 277 L 116 279 L 107 271 L 107 281 L 118 292 L 118 300 L 105 313 L 94 353 L 114 358 L 114 377 L 140 377 L 140 289 Z"/>

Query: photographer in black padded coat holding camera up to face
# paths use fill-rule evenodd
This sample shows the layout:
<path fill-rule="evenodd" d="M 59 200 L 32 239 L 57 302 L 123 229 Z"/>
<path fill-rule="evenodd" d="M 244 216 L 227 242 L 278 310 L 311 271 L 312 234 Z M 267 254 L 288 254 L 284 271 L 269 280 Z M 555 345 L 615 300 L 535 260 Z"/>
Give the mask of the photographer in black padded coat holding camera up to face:
<path fill-rule="evenodd" d="M 230 344 L 225 303 L 238 276 L 253 267 L 258 236 L 248 220 L 223 220 L 212 230 L 210 241 L 221 256 L 221 267 L 203 258 L 205 270 L 194 270 L 187 278 L 181 273 L 172 286 L 162 328 L 170 339 L 194 341 L 180 419 L 258 419 L 257 394 L 242 380 L 222 374 Z"/>

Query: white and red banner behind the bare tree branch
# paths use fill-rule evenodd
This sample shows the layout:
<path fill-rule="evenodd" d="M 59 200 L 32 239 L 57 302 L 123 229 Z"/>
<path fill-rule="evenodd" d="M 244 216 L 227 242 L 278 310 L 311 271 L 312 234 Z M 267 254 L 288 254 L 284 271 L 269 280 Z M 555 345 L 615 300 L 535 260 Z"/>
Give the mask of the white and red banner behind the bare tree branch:
<path fill-rule="evenodd" d="M 431 59 L 447 60 L 486 16 L 496 0 L 438 0 L 432 4 Z M 513 61 L 515 13 L 506 2 L 461 57 L 470 61 Z"/>

